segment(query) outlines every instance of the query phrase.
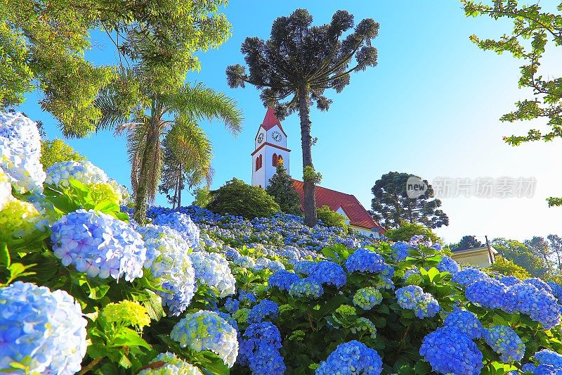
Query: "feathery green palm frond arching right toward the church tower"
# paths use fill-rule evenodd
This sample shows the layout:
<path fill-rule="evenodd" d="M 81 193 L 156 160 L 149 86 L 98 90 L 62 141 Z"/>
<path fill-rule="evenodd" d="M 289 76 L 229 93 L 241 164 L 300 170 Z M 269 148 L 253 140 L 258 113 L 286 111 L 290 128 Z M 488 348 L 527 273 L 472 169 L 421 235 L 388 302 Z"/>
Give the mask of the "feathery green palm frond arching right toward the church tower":
<path fill-rule="evenodd" d="M 185 84 L 178 92 L 166 96 L 164 101 L 171 113 L 185 115 L 195 121 L 222 120 L 235 136 L 242 131 L 243 117 L 236 101 L 203 84 Z"/>

